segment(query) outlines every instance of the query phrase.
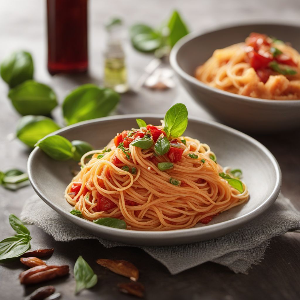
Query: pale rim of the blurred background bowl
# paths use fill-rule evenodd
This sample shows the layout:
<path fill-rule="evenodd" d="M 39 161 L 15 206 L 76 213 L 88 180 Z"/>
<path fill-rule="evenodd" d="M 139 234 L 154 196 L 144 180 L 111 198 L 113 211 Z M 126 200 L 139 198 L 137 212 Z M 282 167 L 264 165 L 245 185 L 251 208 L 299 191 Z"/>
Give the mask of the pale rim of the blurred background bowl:
<path fill-rule="evenodd" d="M 257 22 L 257 23 L 248 23 L 248 22 L 239 22 L 239 23 L 233 23 L 233 24 L 227 24 L 226 26 L 217 26 L 208 30 L 201 30 L 201 31 L 196 31 L 196 32 L 191 32 L 190 34 L 184 36 L 183 38 L 181 38 L 172 48 L 171 52 L 170 52 L 170 65 L 173 68 L 173 70 L 175 70 L 175 72 L 177 74 L 179 74 L 181 77 L 183 77 L 184 79 L 186 79 L 188 82 L 197 85 L 200 88 L 206 89 L 208 91 L 217 93 L 217 94 L 221 94 L 224 96 L 227 96 L 227 98 L 229 98 L 230 100 L 233 99 L 240 99 L 242 98 L 243 101 L 247 101 L 247 102 L 254 102 L 254 103 L 264 103 L 264 104 L 272 104 L 272 105 L 277 105 L 277 106 L 284 106 L 285 104 L 288 104 L 289 106 L 299 106 L 300 105 L 300 99 L 296 99 L 296 100 L 272 100 L 272 99 L 262 99 L 262 98 L 253 98 L 253 97 L 249 97 L 249 96 L 244 96 L 244 95 L 238 95 L 235 93 L 231 93 L 228 91 L 223 91 L 219 88 L 215 88 L 215 87 L 211 87 L 209 85 L 206 85 L 204 82 L 199 81 L 198 79 L 196 79 L 195 77 L 191 76 L 190 74 L 188 74 L 187 72 L 185 72 L 180 66 L 179 63 L 177 61 L 177 55 L 179 50 L 182 48 L 182 46 L 184 46 L 185 44 L 187 44 L 188 42 L 202 36 L 202 35 L 206 35 L 206 34 L 210 34 L 210 33 L 214 33 L 214 32 L 218 32 L 218 31 L 222 31 L 222 30 L 226 30 L 226 29 L 234 29 L 237 27 L 247 27 L 247 26 L 283 26 L 283 27 L 295 27 L 297 29 L 299 29 L 300 31 L 300 26 L 298 26 L 295 23 L 288 23 L 288 22 L 284 22 L 284 23 L 270 23 L 270 22 Z M 196 68 L 196 67 L 195 67 Z"/>

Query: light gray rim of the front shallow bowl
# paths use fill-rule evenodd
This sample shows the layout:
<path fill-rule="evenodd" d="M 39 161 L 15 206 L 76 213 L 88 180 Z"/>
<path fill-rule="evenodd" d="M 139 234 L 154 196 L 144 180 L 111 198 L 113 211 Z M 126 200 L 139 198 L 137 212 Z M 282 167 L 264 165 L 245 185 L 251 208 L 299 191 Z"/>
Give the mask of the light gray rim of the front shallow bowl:
<path fill-rule="evenodd" d="M 116 115 L 116 116 L 109 116 L 109 117 L 103 117 L 99 119 L 93 119 L 93 120 L 88 120 L 88 121 L 82 121 L 79 123 L 76 123 L 74 125 L 70 125 L 64 128 L 61 128 L 57 131 L 52 132 L 51 134 L 48 134 L 48 136 L 52 136 L 55 134 L 63 134 L 64 132 L 67 132 L 70 129 L 73 128 L 78 128 L 80 126 L 85 126 L 88 124 L 93 124 L 93 123 L 98 123 L 98 122 L 106 122 L 106 121 L 114 121 L 114 120 L 119 120 L 119 119 L 136 119 L 136 118 L 157 118 L 157 119 L 163 119 L 163 115 L 160 114 L 128 114 L 128 115 Z M 260 142 L 255 140 L 254 138 L 248 136 L 247 134 L 244 134 L 236 129 L 230 128 L 226 125 L 210 121 L 210 120 L 200 120 L 199 118 L 196 117 L 190 117 L 189 120 L 198 122 L 199 124 L 205 124 L 209 125 L 211 127 L 216 128 L 217 130 L 225 131 L 226 133 L 229 134 L 234 134 L 235 136 L 238 136 L 241 139 L 247 140 L 253 146 L 258 147 L 262 152 L 265 153 L 265 155 L 268 156 L 271 164 L 273 165 L 275 169 L 275 176 L 276 176 L 276 181 L 274 188 L 272 192 L 269 194 L 269 196 L 264 199 L 258 207 L 253 209 L 250 212 L 247 212 L 246 214 L 243 214 L 239 217 L 235 217 L 230 220 L 226 220 L 220 223 L 216 224 L 211 224 L 207 226 L 201 226 L 201 227 L 192 227 L 192 228 L 187 228 L 187 229 L 173 229 L 173 230 L 168 230 L 168 231 L 146 231 L 146 230 L 141 230 L 141 231 L 135 231 L 135 230 L 124 230 L 124 229 L 118 229 L 118 228 L 113 228 L 113 227 L 107 227 L 99 224 L 95 224 L 89 220 L 85 220 L 83 218 L 78 218 L 77 216 L 74 216 L 70 214 L 70 211 L 65 210 L 64 208 L 59 207 L 56 205 L 54 202 L 52 202 L 52 199 L 49 199 L 47 195 L 45 195 L 38 187 L 38 184 L 34 181 L 34 163 L 35 161 L 35 156 L 37 153 L 41 152 L 42 150 L 39 147 L 35 147 L 35 149 L 32 150 L 32 152 L 29 155 L 28 162 L 27 162 L 27 173 L 29 177 L 29 181 L 37 193 L 37 195 L 44 201 L 46 202 L 47 205 L 49 205 L 51 208 L 53 208 L 55 211 L 57 211 L 59 214 L 61 214 L 63 217 L 66 217 L 73 223 L 75 223 L 77 226 L 80 226 L 79 223 L 82 223 L 86 225 L 89 229 L 92 231 L 95 231 L 94 229 L 97 228 L 98 226 L 101 226 L 101 233 L 107 234 L 107 235 L 122 235 L 122 237 L 128 237 L 128 238 L 146 238 L 146 239 L 151 239 L 151 238 L 187 238 L 187 237 L 192 237 L 195 235 L 197 231 L 200 231 L 202 234 L 210 234 L 214 233 L 215 231 L 222 231 L 222 228 L 226 226 L 226 228 L 233 228 L 238 225 L 243 225 L 251 220 L 253 220 L 255 217 L 257 217 L 259 214 L 261 214 L 263 211 L 268 209 L 274 201 L 277 199 L 277 196 L 280 193 L 281 189 L 281 184 L 282 184 L 282 176 L 281 176 L 281 170 L 279 167 L 279 164 L 277 160 L 274 158 L 273 154 L 265 147 L 263 146 Z M 64 197 L 62 197 L 62 200 L 64 200 Z M 81 227 L 81 226 L 80 226 Z M 83 226 L 82 226 L 83 227 Z M 178 244 L 178 243 L 177 243 Z"/>

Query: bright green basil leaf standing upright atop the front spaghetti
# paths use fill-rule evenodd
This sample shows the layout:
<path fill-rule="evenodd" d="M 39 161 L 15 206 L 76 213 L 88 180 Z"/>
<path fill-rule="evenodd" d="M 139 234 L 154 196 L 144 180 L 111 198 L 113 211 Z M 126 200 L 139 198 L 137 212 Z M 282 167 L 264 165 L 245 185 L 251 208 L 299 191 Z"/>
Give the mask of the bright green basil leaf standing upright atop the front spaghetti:
<path fill-rule="evenodd" d="M 167 136 L 180 137 L 187 128 L 187 108 L 182 103 L 173 105 L 164 117 Z"/>

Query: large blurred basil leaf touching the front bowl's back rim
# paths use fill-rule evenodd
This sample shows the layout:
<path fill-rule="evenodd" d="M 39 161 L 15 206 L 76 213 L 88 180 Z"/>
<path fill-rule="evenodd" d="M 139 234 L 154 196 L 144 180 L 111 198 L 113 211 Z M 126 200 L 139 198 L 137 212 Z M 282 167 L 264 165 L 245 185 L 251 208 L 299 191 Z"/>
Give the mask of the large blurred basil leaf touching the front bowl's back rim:
<path fill-rule="evenodd" d="M 62 110 L 67 125 L 106 117 L 118 104 L 120 95 L 110 88 L 84 84 L 64 99 Z"/>

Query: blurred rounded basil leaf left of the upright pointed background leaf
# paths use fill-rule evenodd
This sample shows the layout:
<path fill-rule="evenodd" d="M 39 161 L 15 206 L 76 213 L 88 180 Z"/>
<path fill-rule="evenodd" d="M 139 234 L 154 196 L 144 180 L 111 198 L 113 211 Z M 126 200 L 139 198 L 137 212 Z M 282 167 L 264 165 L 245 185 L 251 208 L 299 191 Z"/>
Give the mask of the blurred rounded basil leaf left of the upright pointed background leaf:
<path fill-rule="evenodd" d="M 131 26 L 130 36 L 134 48 L 141 52 L 153 52 L 162 45 L 161 34 L 145 24 Z"/>

